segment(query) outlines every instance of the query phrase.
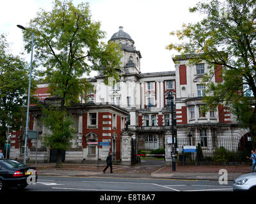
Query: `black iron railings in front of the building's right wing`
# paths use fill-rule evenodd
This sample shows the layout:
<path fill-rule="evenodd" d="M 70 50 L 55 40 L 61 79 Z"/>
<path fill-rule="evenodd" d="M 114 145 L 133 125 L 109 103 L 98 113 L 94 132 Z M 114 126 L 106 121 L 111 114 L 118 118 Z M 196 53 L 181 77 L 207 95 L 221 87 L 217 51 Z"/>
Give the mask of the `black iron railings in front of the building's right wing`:
<path fill-rule="evenodd" d="M 215 150 L 224 147 L 230 152 L 237 152 L 241 147 L 240 138 L 234 137 L 187 137 L 187 138 L 177 138 L 176 147 L 182 149 L 184 146 L 196 146 L 198 143 L 201 146 L 202 153 L 204 157 L 212 157 Z M 196 153 L 191 153 L 191 159 L 196 159 Z"/>

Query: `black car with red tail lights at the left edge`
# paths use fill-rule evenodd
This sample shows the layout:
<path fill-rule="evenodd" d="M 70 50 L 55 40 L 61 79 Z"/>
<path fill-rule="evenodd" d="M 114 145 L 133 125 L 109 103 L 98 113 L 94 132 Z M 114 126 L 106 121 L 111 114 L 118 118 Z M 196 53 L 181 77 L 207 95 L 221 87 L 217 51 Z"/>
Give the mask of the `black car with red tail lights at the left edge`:
<path fill-rule="evenodd" d="M 0 192 L 6 187 L 24 189 L 35 184 L 37 173 L 35 167 L 29 167 L 11 159 L 0 159 Z"/>

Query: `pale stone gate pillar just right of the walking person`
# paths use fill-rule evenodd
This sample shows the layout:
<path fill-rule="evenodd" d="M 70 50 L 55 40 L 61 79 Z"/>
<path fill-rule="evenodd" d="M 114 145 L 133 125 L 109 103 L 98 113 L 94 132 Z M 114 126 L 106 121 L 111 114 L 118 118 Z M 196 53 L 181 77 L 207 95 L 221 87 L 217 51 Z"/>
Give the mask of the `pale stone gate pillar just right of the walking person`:
<path fill-rule="evenodd" d="M 124 131 L 121 133 L 121 161 L 123 165 L 132 165 L 132 133 L 129 131 Z"/>

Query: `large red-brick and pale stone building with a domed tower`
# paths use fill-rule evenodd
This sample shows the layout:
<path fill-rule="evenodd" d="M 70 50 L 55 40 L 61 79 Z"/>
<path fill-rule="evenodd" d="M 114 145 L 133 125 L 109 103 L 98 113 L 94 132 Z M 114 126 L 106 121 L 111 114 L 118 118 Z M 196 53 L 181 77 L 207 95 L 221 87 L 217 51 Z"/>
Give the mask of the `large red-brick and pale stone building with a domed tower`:
<path fill-rule="evenodd" d="M 219 106 L 216 110 L 202 112 L 205 91 L 202 76 L 209 71 L 204 61 L 190 65 L 188 58 L 177 56 L 173 58 L 173 71 L 141 73 L 141 53 L 136 50 L 134 40 L 124 32 L 123 27 L 120 27 L 110 40 L 122 46 L 122 77 L 116 84 L 109 85 L 104 84 L 101 71 L 97 76 L 88 78 L 94 90 L 87 98 L 81 97 L 81 104 L 72 109 L 77 137 L 73 141 L 72 149 L 66 151 L 65 161 L 96 159 L 97 147 L 92 143 L 102 141 L 111 141 L 111 147 L 100 148 L 102 158 L 106 157 L 106 152 L 113 150 L 116 152 L 115 158 L 120 159 L 120 137 L 125 120 L 132 138 L 136 139 L 137 149 L 166 147 L 167 138 L 172 136 L 170 101 L 166 100 L 170 91 L 174 94 L 173 122 L 177 139 L 189 136 L 190 145 L 200 143 L 204 150 L 212 152 L 219 145 L 216 143 L 217 138 L 238 138 L 235 141 L 239 141 L 246 134 L 246 130 L 239 127 L 236 118 L 227 107 Z M 222 82 L 220 69 L 221 67 L 216 69 L 211 82 Z M 46 90 L 47 85 L 38 86 L 36 94 L 41 100 L 46 97 Z M 85 101 L 90 103 L 84 104 Z M 47 130 L 40 124 L 38 115 L 40 113 L 35 113 L 35 109 L 32 108 L 31 129 L 44 136 Z M 12 140 L 11 156 L 18 157 L 22 141 L 19 142 L 17 136 L 13 136 Z M 177 147 L 182 145 L 186 144 L 177 143 Z M 29 141 L 29 150 L 33 150 L 34 147 L 35 141 Z M 236 149 L 238 143 L 235 143 L 234 147 Z M 49 161 L 50 150 L 44 149 L 42 144 L 40 148 L 44 154 L 43 160 Z"/>

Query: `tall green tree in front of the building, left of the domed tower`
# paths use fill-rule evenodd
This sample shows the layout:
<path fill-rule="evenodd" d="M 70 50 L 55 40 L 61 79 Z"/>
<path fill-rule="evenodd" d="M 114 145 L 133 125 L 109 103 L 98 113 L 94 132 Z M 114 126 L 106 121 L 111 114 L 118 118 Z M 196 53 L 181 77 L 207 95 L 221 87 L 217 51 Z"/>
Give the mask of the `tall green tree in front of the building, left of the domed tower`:
<path fill-rule="evenodd" d="M 118 80 L 120 47 L 111 41 L 108 44 L 102 41 L 105 33 L 100 30 L 100 23 L 92 20 L 87 3 L 76 7 L 72 1 L 55 0 L 51 11 L 37 13 L 28 30 L 35 33 L 35 61 L 45 69 L 42 77 L 49 84 L 51 96 L 61 99 L 60 112 L 70 103 L 78 103 L 79 95 L 86 95 L 92 88 L 83 78 L 84 74 L 102 69 L 106 83 L 109 77 Z M 29 38 L 28 32 L 24 32 L 28 52 Z M 65 136 L 61 141 L 67 142 Z M 55 146 L 53 143 L 51 147 Z M 64 147 L 68 146 L 60 145 L 57 152 Z"/>

